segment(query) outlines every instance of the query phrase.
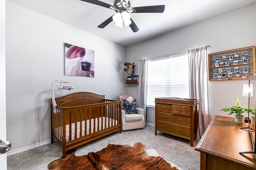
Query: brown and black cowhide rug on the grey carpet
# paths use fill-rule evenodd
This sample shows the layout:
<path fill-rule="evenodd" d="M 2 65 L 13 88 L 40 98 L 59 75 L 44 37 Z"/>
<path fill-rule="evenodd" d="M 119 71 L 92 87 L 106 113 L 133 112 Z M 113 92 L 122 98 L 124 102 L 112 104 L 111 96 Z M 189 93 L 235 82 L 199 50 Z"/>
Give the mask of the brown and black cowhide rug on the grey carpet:
<path fill-rule="evenodd" d="M 178 170 L 172 167 L 161 156 L 148 156 L 145 145 L 135 143 L 130 145 L 112 145 L 96 153 L 76 156 L 75 152 L 67 154 L 66 158 L 52 161 L 49 170 Z"/>

